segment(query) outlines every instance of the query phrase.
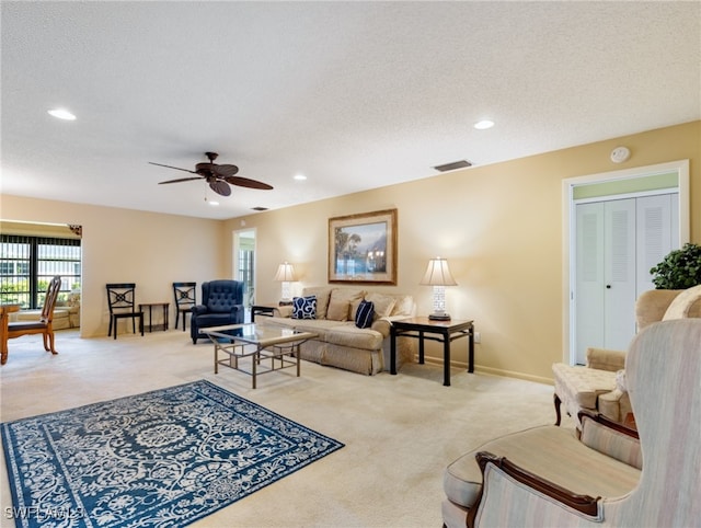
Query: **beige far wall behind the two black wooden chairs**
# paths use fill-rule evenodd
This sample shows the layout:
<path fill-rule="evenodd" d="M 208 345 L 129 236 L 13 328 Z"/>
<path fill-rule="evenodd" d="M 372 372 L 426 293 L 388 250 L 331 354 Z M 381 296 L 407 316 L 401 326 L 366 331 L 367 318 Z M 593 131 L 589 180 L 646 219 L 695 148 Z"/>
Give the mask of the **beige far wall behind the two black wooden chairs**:
<path fill-rule="evenodd" d="M 83 227 L 83 337 L 107 333 L 107 283 L 136 283 L 137 302 L 172 303 L 173 282 L 231 276 L 220 251 L 221 221 L 7 195 L 1 205 L 5 220 Z"/>

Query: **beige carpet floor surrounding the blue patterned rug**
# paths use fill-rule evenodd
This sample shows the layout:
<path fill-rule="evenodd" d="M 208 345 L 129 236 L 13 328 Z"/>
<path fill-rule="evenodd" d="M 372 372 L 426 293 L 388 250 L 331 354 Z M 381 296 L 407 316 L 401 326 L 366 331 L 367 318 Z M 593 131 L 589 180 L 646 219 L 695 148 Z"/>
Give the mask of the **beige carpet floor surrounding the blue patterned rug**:
<path fill-rule="evenodd" d="M 495 436 L 554 422 L 552 387 L 443 367 L 407 365 L 374 377 L 302 361 L 251 378 L 212 369 L 212 346 L 189 332 L 81 340 L 56 335 L 58 356 L 41 337 L 10 341 L 0 370 L 3 422 L 208 379 L 346 445 L 216 514 L 196 527 L 439 527 L 447 463 Z M 10 489 L 2 460 L 1 527 Z"/>

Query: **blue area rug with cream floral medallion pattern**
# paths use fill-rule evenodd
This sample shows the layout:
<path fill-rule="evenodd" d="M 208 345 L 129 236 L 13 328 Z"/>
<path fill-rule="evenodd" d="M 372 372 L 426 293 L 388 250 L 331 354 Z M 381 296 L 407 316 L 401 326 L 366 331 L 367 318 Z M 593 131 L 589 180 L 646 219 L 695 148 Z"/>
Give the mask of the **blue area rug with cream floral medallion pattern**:
<path fill-rule="evenodd" d="M 343 447 L 205 380 L 4 423 L 2 443 L 23 527 L 184 526 Z"/>

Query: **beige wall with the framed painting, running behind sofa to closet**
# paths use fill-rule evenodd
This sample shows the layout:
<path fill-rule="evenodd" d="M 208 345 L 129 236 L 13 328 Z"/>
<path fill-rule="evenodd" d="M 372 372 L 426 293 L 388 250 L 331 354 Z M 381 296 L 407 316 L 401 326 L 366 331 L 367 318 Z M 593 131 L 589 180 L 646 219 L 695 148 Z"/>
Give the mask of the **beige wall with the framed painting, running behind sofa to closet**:
<path fill-rule="evenodd" d="M 609 153 L 620 145 L 632 157 L 616 164 Z M 458 282 L 447 288 L 448 311 L 474 319 L 482 337 L 478 369 L 543 381 L 563 355 L 562 181 L 690 159 L 691 240 L 698 243 L 700 146 L 701 122 L 694 122 L 231 219 L 225 231 L 242 229 L 242 222 L 256 230 L 256 299 L 274 301 L 280 286 L 272 278 L 283 261 L 300 275 L 297 292 L 326 284 L 330 217 L 395 207 L 399 282 L 380 289 L 412 294 L 418 311 L 428 313 L 432 289 L 418 282 L 428 259 L 447 257 Z M 458 341 L 455 349 L 456 363 L 464 364 L 464 345 Z M 429 354 L 440 357 L 437 346 Z"/>

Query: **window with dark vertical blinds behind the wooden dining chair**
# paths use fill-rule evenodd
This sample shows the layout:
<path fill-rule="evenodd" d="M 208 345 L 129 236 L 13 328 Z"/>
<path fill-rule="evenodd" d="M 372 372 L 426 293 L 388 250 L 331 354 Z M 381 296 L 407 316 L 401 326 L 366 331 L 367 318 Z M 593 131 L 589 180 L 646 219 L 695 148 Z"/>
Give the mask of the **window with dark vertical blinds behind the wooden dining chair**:
<path fill-rule="evenodd" d="M 22 309 L 41 308 L 48 283 L 61 277 L 59 300 L 80 288 L 79 239 L 0 236 L 0 302 Z"/>

